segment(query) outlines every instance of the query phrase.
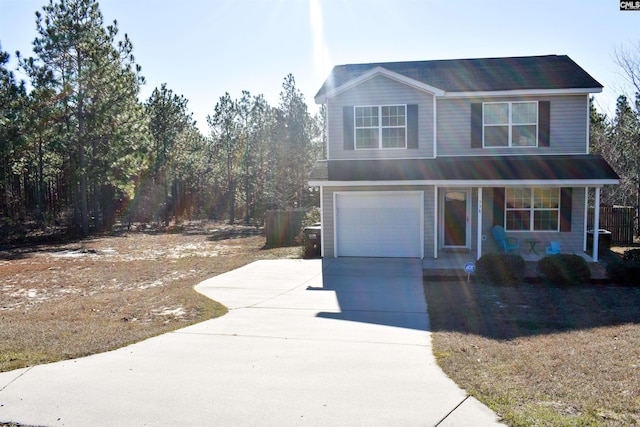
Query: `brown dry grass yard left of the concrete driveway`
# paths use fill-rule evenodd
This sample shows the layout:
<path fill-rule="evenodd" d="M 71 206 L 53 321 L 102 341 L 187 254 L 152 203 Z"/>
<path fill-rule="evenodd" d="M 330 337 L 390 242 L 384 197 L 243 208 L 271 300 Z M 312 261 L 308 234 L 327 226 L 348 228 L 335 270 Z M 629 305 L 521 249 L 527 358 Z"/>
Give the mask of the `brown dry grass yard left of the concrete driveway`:
<path fill-rule="evenodd" d="M 193 287 L 259 259 L 254 227 L 194 223 L 0 251 L 0 372 L 111 350 L 221 316 Z"/>

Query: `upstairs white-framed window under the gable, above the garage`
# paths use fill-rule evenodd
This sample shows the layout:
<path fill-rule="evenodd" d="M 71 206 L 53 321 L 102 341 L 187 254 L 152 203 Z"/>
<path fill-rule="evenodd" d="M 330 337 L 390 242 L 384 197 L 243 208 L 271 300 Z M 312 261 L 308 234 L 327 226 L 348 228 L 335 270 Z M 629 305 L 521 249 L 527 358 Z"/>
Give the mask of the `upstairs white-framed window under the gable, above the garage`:
<path fill-rule="evenodd" d="M 356 149 L 406 147 L 406 105 L 355 107 Z"/>

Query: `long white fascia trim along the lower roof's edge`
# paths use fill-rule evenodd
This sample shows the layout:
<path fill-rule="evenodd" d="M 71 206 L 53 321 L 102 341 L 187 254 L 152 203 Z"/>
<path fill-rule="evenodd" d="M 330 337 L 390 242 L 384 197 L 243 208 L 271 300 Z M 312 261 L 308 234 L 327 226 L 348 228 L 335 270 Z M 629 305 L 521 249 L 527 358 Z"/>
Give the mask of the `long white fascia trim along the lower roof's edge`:
<path fill-rule="evenodd" d="M 383 187 L 383 186 L 414 186 L 437 185 L 440 187 L 602 187 L 604 185 L 618 185 L 617 179 L 605 180 L 483 180 L 483 181 L 309 181 L 309 187 Z"/>

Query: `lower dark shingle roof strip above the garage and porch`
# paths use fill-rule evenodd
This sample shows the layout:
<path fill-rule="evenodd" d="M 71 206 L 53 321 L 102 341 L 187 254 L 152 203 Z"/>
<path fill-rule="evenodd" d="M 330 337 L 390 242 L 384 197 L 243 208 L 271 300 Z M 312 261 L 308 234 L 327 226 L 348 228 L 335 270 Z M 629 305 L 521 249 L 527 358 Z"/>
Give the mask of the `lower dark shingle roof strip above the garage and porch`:
<path fill-rule="evenodd" d="M 310 181 L 610 181 L 618 175 L 600 155 L 438 157 L 330 160 Z"/>

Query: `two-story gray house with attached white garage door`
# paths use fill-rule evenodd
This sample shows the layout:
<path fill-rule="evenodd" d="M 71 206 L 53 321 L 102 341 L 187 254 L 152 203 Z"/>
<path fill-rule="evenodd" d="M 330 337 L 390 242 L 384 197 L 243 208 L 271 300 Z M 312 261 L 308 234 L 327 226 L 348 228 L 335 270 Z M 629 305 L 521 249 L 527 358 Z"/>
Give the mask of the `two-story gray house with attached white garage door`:
<path fill-rule="evenodd" d="M 598 205 L 618 183 L 589 153 L 589 96 L 601 91 L 556 55 L 334 67 L 315 97 L 327 160 L 309 178 L 322 255 L 479 258 L 498 250 L 496 224 L 543 252 L 550 241 L 584 252 L 588 194 Z"/>

